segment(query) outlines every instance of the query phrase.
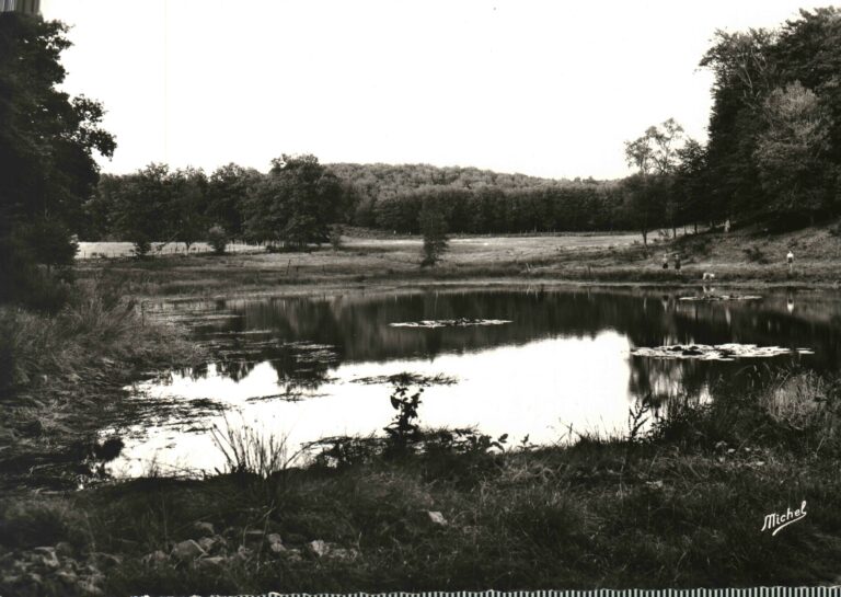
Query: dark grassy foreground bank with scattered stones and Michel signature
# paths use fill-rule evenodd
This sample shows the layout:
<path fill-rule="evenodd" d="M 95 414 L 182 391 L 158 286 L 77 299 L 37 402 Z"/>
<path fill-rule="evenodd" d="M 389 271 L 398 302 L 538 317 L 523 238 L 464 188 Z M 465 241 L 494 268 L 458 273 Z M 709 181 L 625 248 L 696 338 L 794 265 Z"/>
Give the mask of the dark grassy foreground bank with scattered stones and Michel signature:
<path fill-rule="evenodd" d="M 500 454 L 437 434 L 402 455 L 349 441 L 304 470 L 4 500 L 0 592 L 828 584 L 840 404 L 837 382 L 786 375 L 706 406 L 673 402 L 633 440 Z M 804 501 L 805 519 L 760 531 Z"/>

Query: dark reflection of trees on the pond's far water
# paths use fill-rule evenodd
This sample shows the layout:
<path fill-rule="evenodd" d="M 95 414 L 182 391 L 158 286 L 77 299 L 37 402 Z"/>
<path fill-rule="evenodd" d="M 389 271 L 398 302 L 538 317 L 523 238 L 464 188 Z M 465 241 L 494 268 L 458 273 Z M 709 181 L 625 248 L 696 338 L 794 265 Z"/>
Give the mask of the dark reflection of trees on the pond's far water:
<path fill-rule="evenodd" d="M 241 379 L 256 363 L 269 360 L 279 379 L 314 388 L 339 360 L 431 358 L 442 353 L 461 354 L 540 338 L 595 337 L 612 330 L 626 336 L 633 347 L 726 342 L 808 346 L 817 353 L 809 361 L 814 367 L 836 368 L 841 361 L 838 353 L 841 307 L 829 301 L 822 305 L 825 309 L 816 311 L 808 308 L 808 298 L 798 298 L 797 309 L 788 313 L 784 295 L 761 301 L 707 303 L 680 301 L 676 292 L 598 289 L 233 300 L 215 305 L 240 315 L 215 322 L 217 331 L 270 330 L 277 343 L 217 367 L 223 375 Z M 504 319 L 512 323 L 431 330 L 389 325 L 457 318 Z M 251 342 L 246 335 L 238 337 L 243 346 Z M 341 358 L 302 363 L 296 349 L 284 344 L 297 341 L 335 346 Z M 632 393 L 650 393 L 655 399 L 672 394 L 679 388 L 698 393 L 710 379 L 734 370 L 733 364 L 725 363 L 647 358 L 631 358 L 630 366 Z"/>

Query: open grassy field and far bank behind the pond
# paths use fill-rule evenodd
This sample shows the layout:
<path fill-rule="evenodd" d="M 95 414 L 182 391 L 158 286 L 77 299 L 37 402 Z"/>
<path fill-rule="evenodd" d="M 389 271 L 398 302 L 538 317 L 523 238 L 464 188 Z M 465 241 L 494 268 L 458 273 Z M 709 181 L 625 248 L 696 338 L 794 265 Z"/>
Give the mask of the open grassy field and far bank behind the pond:
<path fill-rule="evenodd" d="M 785 265 L 795 253 L 792 272 Z M 682 267 L 661 267 L 680 253 Z M 631 234 L 466 237 L 453 239 L 445 260 L 419 266 L 419 239 L 346 238 L 338 250 L 161 256 L 146 261 L 83 261 L 81 276 L 125 280 L 134 296 L 195 297 L 231 292 L 299 292 L 470 280 L 698 285 L 705 272 L 716 284 L 822 285 L 841 282 L 841 237 L 834 227 L 769 236 L 762 231 L 704 232 L 643 246 Z"/>

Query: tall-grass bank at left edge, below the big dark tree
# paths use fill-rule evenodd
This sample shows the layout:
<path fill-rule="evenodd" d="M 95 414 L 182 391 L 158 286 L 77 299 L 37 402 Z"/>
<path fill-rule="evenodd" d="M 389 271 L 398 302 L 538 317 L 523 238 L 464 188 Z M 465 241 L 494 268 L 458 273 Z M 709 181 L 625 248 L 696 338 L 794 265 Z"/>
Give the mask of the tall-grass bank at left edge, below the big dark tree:
<path fill-rule="evenodd" d="M 0 309 L 0 481 L 9 491 L 74 486 L 93 436 L 122 389 L 149 371 L 200 357 L 172 325 L 146 321 L 125 288 L 77 283 L 56 313 Z"/>

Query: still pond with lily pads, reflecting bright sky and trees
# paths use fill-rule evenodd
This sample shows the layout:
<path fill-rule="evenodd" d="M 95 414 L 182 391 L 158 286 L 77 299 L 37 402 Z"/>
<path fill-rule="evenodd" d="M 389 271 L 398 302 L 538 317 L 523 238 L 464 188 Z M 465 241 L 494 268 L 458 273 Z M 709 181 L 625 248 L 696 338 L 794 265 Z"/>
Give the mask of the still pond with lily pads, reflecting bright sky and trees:
<path fill-rule="evenodd" d="M 655 404 L 675 395 L 705 401 L 718 379 L 749 383 L 775 366 L 839 368 L 838 294 L 686 300 L 704 296 L 700 288 L 488 287 L 158 305 L 157 315 L 187 323 L 217 356 L 131 388 L 134 418 L 103 430 L 126 443 L 111 471 L 221 468 L 214 428 L 252 427 L 285 437 L 290 451 L 322 437 L 382 433 L 395 413 L 389 377 L 402 372 L 433 378 L 423 426 L 552 444 L 626 433 L 629 409 L 645 395 Z M 762 358 L 634 354 L 722 344 L 780 349 Z"/>

